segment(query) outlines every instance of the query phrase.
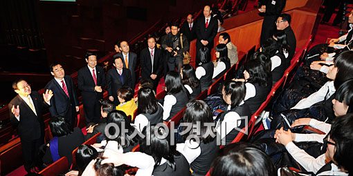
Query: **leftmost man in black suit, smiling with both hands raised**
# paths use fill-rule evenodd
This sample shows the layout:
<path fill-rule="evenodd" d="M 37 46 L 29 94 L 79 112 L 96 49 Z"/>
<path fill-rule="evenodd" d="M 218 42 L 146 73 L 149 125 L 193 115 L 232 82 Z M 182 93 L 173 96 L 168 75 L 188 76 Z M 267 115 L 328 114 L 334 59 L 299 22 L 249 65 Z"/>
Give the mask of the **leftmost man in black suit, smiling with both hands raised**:
<path fill-rule="evenodd" d="M 36 158 L 39 146 L 44 144 L 44 120 L 42 110 L 50 105 L 53 92 L 46 90 L 43 98 L 37 91 L 32 91 L 24 79 L 14 81 L 12 88 L 17 96 L 10 101 L 10 121 L 18 130 L 24 156 L 24 168 L 28 173 L 35 173 L 38 166 Z"/>

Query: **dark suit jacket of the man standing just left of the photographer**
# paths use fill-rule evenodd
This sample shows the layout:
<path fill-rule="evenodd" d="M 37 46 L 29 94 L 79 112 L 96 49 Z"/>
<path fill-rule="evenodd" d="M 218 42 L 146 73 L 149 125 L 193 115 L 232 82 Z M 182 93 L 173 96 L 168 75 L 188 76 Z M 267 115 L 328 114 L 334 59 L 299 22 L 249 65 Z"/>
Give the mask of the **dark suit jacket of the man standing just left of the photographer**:
<path fill-rule="evenodd" d="M 154 48 L 153 53 L 153 72 L 152 72 L 152 59 L 150 54 L 150 49 L 145 48 L 140 52 L 140 61 L 141 61 L 141 77 L 142 78 L 150 78 L 150 75 L 156 74 L 158 77 L 162 75 L 162 50 L 159 48 Z"/>

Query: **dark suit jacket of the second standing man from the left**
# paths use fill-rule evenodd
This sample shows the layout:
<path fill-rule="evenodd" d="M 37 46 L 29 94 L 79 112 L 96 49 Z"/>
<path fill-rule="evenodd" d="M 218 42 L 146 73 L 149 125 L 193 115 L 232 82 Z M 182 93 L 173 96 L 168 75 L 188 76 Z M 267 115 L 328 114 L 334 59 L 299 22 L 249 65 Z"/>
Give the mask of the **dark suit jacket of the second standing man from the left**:
<path fill-rule="evenodd" d="M 52 117 L 57 115 L 66 117 L 66 113 L 69 111 L 69 108 L 74 109 L 75 106 L 79 105 L 72 78 L 66 75 L 64 77 L 64 81 L 70 97 L 67 97 L 66 93 L 62 89 L 62 86 L 57 83 L 55 78 L 51 79 L 51 81 L 49 81 L 44 88 L 44 90 L 49 89 L 53 91 L 54 96 L 51 98 L 51 107 L 49 107 Z M 75 112 L 75 110 L 73 112 Z"/>

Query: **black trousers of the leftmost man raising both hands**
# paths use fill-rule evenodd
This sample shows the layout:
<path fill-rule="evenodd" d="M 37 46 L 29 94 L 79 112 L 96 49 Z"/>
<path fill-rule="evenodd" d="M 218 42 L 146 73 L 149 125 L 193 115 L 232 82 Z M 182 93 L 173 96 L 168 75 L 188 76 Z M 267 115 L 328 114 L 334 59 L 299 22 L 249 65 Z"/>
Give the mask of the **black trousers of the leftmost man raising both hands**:
<path fill-rule="evenodd" d="M 41 161 L 38 158 L 39 147 L 44 144 L 44 137 L 39 139 L 27 140 L 21 138 L 22 155 L 24 156 L 24 168 L 30 173 L 30 168 L 39 166 Z"/>

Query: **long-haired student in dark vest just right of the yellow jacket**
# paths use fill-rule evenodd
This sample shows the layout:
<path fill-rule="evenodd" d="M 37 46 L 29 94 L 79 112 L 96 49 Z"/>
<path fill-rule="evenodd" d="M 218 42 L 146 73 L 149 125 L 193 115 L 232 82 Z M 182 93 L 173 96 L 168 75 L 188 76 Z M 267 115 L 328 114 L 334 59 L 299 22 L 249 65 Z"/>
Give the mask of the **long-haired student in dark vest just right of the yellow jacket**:
<path fill-rule="evenodd" d="M 148 122 L 151 125 L 163 122 L 163 106 L 157 102 L 152 88 L 138 90 L 137 114 L 132 125 L 140 132 Z"/>

